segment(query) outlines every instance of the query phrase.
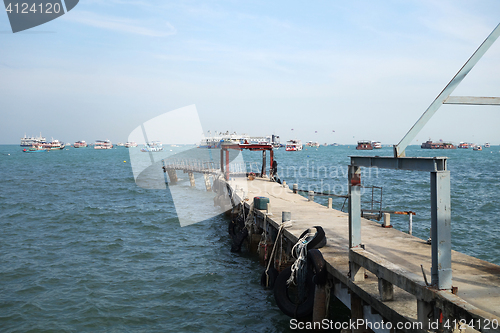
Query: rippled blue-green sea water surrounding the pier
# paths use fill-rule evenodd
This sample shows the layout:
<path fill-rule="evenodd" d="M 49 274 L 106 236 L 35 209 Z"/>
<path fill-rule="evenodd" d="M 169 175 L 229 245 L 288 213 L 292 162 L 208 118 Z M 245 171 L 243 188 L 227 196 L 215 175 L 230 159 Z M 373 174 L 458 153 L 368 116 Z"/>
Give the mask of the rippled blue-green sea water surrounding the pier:
<path fill-rule="evenodd" d="M 349 156 L 391 153 L 390 147 L 322 146 L 279 149 L 275 159 L 289 185 L 341 195 Z M 407 155 L 449 157 L 453 249 L 500 264 L 500 147 L 411 146 Z M 260 158 L 244 152 L 245 161 Z M 382 187 L 384 210 L 416 212 L 413 234 L 428 238 L 429 173 L 367 170 L 362 177 L 365 186 Z M 326 204 L 324 197 L 317 201 Z M 343 203 L 335 198 L 333 208 Z M 289 326 L 259 285 L 257 257 L 230 252 L 228 218 L 180 227 L 168 189 L 135 184 L 126 148 L 23 153 L 0 145 L 0 207 L 1 332 L 283 332 Z M 391 222 L 408 230 L 407 216 Z"/>

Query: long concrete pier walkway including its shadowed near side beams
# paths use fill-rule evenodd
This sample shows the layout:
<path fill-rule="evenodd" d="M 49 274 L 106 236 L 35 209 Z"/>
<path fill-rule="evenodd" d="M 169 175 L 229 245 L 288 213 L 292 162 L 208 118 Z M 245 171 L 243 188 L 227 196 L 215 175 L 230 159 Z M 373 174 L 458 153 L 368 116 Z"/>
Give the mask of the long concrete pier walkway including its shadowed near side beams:
<path fill-rule="evenodd" d="M 454 292 L 436 290 L 426 285 L 421 269 L 422 265 L 426 276 L 430 277 L 431 246 L 425 241 L 362 219 L 364 249 L 349 250 L 347 213 L 308 201 L 267 178 L 249 181 L 248 191 L 247 209 L 250 209 L 253 197 L 269 198 L 270 214 L 257 209 L 254 209 L 254 214 L 276 229 L 281 224 L 282 212 L 291 212 L 292 226 L 286 228 L 284 235 L 292 243 L 305 229 L 323 227 L 328 243 L 320 251 L 327 262 L 328 273 L 335 281 L 332 294 L 351 310 L 353 302 L 359 303 L 358 307 L 361 304 L 365 319 L 393 323 L 425 318 L 463 319 L 467 323 L 471 320 L 477 323 L 475 328 L 478 331 L 500 331 L 494 324 L 495 320 L 497 324 L 500 322 L 500 266 L 452 251 Z M 365 269 L 360 278 L 360 274 L 350 276 L 353 262 Z M 437 315 L 436 309 L 439 310 Z"/>

